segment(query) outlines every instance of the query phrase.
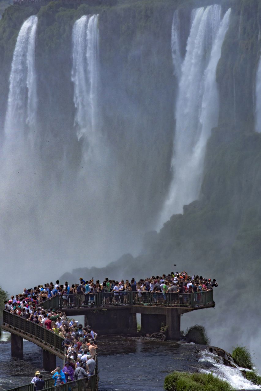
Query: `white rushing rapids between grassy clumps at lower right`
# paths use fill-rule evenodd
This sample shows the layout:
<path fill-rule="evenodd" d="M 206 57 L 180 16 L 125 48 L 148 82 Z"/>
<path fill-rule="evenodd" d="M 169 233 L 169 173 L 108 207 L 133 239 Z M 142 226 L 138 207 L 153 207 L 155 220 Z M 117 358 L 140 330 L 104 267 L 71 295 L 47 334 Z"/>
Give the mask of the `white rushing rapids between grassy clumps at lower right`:
<path fill-rule="evenodd" d="M 213 367 L 209 369 L 201 369 L 203 373 L 213 373 L 218 376 L 221 380 L 226 380 L 236 390 L 260 390 L 261 386 L 256 386 L 249 380 L 247 380 L 240 369 L 248 371 L 245 368 L 236 368 L 226 366 L 223 364 L 223 359 L 214 353 L 208 352 L 206 349 L 200 352 L 201 357 L 199 362 L 210 362 Z"/>

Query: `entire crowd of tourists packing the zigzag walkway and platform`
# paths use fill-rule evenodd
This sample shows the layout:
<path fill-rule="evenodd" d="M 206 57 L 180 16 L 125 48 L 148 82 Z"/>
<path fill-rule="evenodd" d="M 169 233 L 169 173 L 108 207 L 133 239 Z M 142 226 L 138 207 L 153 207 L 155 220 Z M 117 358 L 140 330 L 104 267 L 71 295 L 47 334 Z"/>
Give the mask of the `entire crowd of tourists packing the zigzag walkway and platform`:
<path fill-rule="evenodd" d="M 137 301 L 142 301 L 144 295 L 151 292 L 154 304 L 164 303 L 167 294 L 176 294 L 176 299 L 184 303 L 185 298 L 181 294 L 207 292 L 217 287 L 215 279 L 203 278 L 202 276 L 190 276 L 186 271 L 181 273 L 169 273 L 168 275 L 152 276 L 138 281 L 132 278 L 130 281 L 105 280 L 100 283 L 94 279 L 84 280 L 82 277 L 79 283 L 69 285 L 68 282 L 60 284 L 57 280 L 38 285 L 34 288 L 26 289 L 16 296 L 11 296 L 5 301 L 5 310 L 24 317 L 26 321 L 47 328 L 51 332 L 62 337 L 62 346 L 65 352 L 65 364 L 63 368 L 59 366 L 52 372 L 54 386 L 72 380 L 94 375 L 96 367 L 97 334 L 89 325 L 83 326 L 74 319 L 69 319 L 62 310 L 46 310 L 42 304 L 44 301 L 55 296 L 61 296 L 63 304 L 75 303 L 75 296 L 80 295 L 82 305 L 94 305 L 94 294 L 101 293 L 102 303 L 122 304 L 128 303 L 128 292 L 133 292 Z M 32 379 L 34 391 L 44 389 L 45 382 L 39 371 L 36 371 Z"/>

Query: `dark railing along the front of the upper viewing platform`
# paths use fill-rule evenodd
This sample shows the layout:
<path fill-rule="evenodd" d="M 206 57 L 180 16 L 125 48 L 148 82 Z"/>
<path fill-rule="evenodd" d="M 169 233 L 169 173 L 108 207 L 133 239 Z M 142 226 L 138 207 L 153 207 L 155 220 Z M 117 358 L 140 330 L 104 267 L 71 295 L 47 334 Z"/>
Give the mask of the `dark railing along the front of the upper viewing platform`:
<path fill-rule="evenodd" d="M 167 307 L 206 307 L 214 303 L 213 291 L 200 293 L 163 292 L 100 292 L 94 294 L 63 294 L 43 303 L 45 309 L 110 307 L 113 305 L 153 305 Z"/>

